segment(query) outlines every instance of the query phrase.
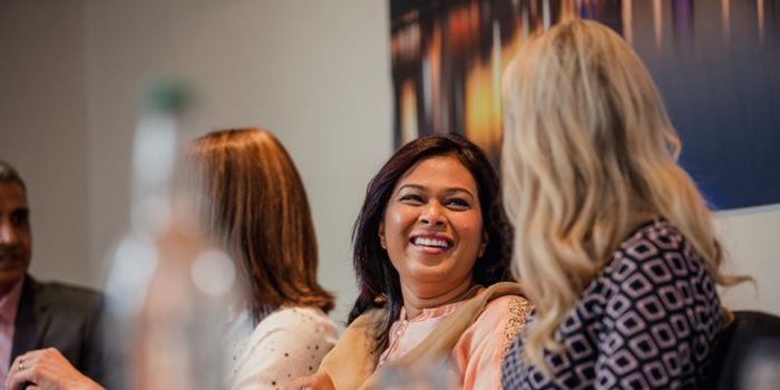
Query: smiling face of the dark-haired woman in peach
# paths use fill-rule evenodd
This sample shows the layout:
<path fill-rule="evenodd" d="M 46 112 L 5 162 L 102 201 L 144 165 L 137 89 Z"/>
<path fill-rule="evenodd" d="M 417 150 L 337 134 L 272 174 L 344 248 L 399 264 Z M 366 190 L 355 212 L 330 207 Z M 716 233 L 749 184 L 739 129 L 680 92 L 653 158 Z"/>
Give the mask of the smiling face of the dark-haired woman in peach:
<path fill-rule="evenodd" d="M 455 156 L 421 160 L 398 181 L 379 227 L 401 284 L 456 286 L 487 244 L 477 183 Z"/>

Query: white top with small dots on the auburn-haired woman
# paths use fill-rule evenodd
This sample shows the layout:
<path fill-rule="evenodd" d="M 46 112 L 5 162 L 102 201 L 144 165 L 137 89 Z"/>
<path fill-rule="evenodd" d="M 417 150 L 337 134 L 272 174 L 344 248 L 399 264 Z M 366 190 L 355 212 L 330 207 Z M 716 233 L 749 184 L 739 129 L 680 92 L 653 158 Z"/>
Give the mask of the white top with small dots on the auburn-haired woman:
<path fill-rule="evenodd" d="M 225 388 L 281 389 L 298 377 L 316 372 L 339 331 L 315 308 L 283 308 L 252 329 L 248 312 L 230 323 L 226 333 Z"/>

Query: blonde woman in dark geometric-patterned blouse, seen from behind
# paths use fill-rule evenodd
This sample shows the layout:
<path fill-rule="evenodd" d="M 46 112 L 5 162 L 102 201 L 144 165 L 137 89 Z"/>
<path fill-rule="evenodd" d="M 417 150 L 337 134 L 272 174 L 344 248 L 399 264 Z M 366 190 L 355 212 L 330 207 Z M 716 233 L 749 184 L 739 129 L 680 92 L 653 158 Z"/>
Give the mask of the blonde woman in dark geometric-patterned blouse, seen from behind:
<path fill-rule="evenodd" d="M 505 206 L 535 305 L 507 389 L 696 388 L 743 277 L 676 164 L 680 139 L 642 61 L 608 28 L 529 39 L 504 81 Z"/>

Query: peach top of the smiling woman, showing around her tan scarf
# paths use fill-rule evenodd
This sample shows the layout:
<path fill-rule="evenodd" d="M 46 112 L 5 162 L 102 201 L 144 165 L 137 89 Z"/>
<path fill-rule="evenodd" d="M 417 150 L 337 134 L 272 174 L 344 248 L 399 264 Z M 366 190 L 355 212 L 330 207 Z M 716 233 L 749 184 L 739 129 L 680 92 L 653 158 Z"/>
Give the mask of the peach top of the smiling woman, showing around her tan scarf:
<path fill-rule="evenodd" d="M 388 348 L 379 358 L 378 368 L 407 354 L 436 326 L 466 301 L 423 309 L 407 320 L 401 308 L 399 319 L 390 328 Z M 501 360 L 515 334 L 530 311 L 528 301 L 506 295 L 488 303 L 477 321 L 460 337 L 450 354 L 450 369 L 460 379 L 462 389 L 500 389 Z"/>

